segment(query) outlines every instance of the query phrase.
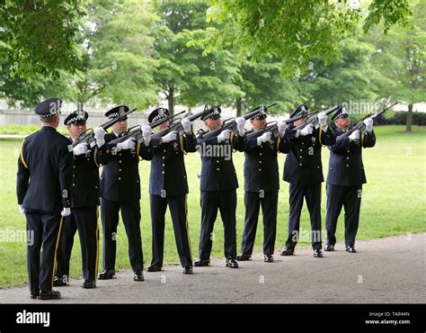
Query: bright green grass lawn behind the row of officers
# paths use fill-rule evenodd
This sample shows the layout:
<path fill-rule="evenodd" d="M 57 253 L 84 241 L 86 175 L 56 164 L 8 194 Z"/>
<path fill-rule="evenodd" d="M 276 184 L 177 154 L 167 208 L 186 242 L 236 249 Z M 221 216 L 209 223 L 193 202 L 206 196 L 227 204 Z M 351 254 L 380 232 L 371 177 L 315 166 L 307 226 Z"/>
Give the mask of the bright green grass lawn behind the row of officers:
<path fill-rule="evenodd" d="M 358 239 L 380 238 L 409 232 L 426 230 L 426 128 L 413 127 L 412 133 L 404 132 L 404 126 L 382 126 L 376 128 L 377 144 L 375 148 L 364 149 L 364 166 L 368 184 L 364 185 L 360 212 Z M 0 139 L 0 232 L 25 230 L 25 217 L 18 212 L 15 194 L 17 157 L 21 140 Z M 327 170 L 329 152 L 323 149 L 324 170 Z M 240 188 L 238 189 L 237 248 L 241 247 L 244 229 L 244 154 L 235 153 L 235 168 Z M 280 154 L 280 176 L 285 155 Z M 189 154 L 186 157 L 190 194 L 188 196 L 189 226 L 193 258 L 198 257 L 200 236 L 200 156 Z M 151 227 L 148 202 L 149 162 L 143 161 L 139 166 L 141 175 L 141 213 L 142 244 L 146 266 L 151 261 Z M 324 175 L 326 176 L 326 175 Z M 288 228 L 288 184 L 280 181 L 280 202 L 278 214 L 278 233 L 276 247 L 284 245 Z M 325 219 L 325 184 L 323 185 L 322 218 Z M 343 213 L 337 229 L 338 241 L 343 240 Z M 255 250 L 262 250 L 262 216 L 256 236 Z M 101 221 L 99 220 L 99 223 Z M 306 206 L 301 217 L 301 231 L 309 230 Z M 305 231 L 305 232 L 306 232 Z M 0 234 L 1 236 L 1 234 Z M 130 268 L 128 242 L 123 224 L 118 230 L 117 268 Z M 299 246 L 309 246 L 305 239 Z M 102 239 L 101 244 L 102 248 Z M 362 250 L 362 248 L 359 248 Z M 101 251 L 102 254 L 102 251 Z M 278 254 L 276 254 L 278 255 Z M 217 219 L 212 257 L 223 257 L 223 225 Z M 173 237 L 173 226 L 167 212 L 165 245 L 165 263 L 179 263 Z M 164 264 L 165 264 L 164 263 Z M 102 257 L 100 258 L 102 267 Z M 81 278 L 81 256 L 78 236 L 71 258 L 71 277 Z M 26 243 L 14 241 L 13 238 L 0 238 L 0 287 L 27 283 Z"/>

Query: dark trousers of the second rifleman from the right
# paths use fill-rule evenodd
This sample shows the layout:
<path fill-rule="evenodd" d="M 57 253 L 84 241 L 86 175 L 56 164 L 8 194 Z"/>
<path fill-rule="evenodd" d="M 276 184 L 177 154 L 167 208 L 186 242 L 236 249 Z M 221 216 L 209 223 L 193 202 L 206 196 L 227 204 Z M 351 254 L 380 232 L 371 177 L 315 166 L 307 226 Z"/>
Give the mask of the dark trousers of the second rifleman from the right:
<path fill-rule="evenodd" d="M 311 219 L 312 248 L 321 249 L 323 244 L 321 231 L 321 183 L 306 186 L 290 184 L 290 211 L 288 214 L 288 238 L 286 247 L 294 250 L 297 245 L 300 228 L 300 212 L 302 211 L 304 198 L 306 199 L 306 206 Z"/>

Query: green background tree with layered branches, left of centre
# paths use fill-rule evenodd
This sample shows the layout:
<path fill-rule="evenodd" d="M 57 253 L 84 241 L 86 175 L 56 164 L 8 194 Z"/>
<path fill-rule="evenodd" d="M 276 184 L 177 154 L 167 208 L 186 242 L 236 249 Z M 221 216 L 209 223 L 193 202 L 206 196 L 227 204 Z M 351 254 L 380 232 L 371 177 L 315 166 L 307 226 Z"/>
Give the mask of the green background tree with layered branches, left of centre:
<path fill-rule="evenodd" d="M 206 10 L 202 2 L 156 2 L 161 19 L 154 30 L 159 59 L 155 82 L 172 113 L 177 102 L 190 107 L 203 103 L 227 105 L 242 95 L 234 84 L 238 76 L 234 56 L 228 50 L 219 50 L 203 57 L 200 45 L 191 43 L 214 29 L 206 23 Z"/>

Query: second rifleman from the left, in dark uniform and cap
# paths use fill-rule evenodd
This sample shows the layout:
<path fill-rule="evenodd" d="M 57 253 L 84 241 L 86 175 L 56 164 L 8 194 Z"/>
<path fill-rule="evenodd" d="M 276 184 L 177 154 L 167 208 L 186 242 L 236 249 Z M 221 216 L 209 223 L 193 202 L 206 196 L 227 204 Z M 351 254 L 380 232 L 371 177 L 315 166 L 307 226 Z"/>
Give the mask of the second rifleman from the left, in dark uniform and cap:
<path fill-rule="evenodd" d="M 129 107 L 119 105 L 105 113 L 110 119 L 129 112 Z M 127 130 L 127 116 L 112 125 L 112 132 L 105 135 L 105 141 L 117 139 Z M 143 142 L 126 139 L 117 144 L 108 144 L 111 159 L 103 166 L 101 175 L 101 219 L 103 229 L 103 270 L 100 280 L 111 279 L 115 275 L 116 238 L 119 224 L 119 211 L 129 240 L 129 259 L 133 268 L 133 280 L 144 281 L 144 258 L 140 237 L 140 178 L 139 157 L 152 158 L 150 147 L 151 128 L 142 126 Z"/>

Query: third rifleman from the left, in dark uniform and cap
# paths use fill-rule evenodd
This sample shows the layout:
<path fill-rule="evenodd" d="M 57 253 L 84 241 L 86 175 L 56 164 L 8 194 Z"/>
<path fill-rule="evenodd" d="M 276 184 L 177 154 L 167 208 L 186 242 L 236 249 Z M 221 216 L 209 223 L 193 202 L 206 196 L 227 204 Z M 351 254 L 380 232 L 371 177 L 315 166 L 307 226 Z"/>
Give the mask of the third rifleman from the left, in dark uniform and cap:
<path fill-rule="evenodd" d="M 155 109 L 149 114 L 150 123 L 167 118 L 169 111 Z M 149 176 L 151 224 L 153 230 L 153 257 L 148 272 L 160 271 L 164 256 L 164 215 L 167 205 L 172 215 L 174 238 L 183 267 L 183 274 L 192 274 L 191 241 L 188 230 L 187 194 L 188 180 L 184 154 L 196 151 L 197 139 L 191 130 L 191 121 L 183 118 L 183 135 L 173 130 L 162 138 L 153 138 L 153 159 Z M 169 121 L 156 129 L 164 130 Z"/>

